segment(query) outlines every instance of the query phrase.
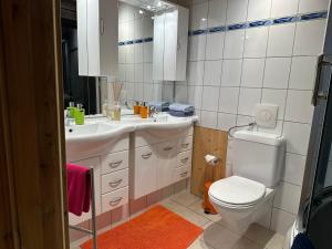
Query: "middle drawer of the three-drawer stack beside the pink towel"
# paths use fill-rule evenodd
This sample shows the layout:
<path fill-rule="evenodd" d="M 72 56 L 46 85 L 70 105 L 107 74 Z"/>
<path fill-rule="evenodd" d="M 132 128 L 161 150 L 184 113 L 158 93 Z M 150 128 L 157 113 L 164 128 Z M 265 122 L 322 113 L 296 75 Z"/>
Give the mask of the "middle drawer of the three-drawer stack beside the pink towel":
<path fill-rule="evenodd" d="M 102 176 L 102 194 L 128 186 L 128 169 Z"/>

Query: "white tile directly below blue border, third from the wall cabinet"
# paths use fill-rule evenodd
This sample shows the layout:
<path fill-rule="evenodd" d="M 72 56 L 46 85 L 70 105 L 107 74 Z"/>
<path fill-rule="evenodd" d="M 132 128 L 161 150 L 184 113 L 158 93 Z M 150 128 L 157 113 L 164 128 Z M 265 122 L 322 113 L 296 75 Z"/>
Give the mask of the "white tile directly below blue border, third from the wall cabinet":
<path fill-rule="evenodd" d="M 245 30 L 236 30 L 226 33 L 225 59 L 240 59 L 243 55 Z"/>

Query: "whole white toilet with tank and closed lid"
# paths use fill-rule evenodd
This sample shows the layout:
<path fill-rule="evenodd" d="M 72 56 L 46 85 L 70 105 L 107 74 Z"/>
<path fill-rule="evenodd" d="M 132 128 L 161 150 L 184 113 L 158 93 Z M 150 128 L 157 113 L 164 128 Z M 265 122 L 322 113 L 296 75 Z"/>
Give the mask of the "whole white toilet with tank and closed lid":
<path fill-rule="evenodd" d="M 270 210 L 281 178 L 286 143 L 280 136 L 238 131 L 232 143 L 232 176 L 215 181 L 209 199 L 222 220 L 238 232 Z"/>

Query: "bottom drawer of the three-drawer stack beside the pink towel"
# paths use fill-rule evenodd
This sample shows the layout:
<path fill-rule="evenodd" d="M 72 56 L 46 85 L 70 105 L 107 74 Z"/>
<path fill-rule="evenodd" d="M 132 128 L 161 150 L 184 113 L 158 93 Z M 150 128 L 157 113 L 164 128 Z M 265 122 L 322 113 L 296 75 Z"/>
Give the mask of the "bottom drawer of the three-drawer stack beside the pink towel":
<path fill-rule="evenodd" d="M 128 203 L 128 187 L 102 195 L 102 212 L 110 211 Z"/>

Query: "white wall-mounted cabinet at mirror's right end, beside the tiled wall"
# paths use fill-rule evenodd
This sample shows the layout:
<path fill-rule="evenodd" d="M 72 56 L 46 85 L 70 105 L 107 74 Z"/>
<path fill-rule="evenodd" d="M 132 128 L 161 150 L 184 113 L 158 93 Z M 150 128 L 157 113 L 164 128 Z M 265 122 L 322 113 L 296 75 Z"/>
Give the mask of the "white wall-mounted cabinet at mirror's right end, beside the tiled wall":
<path fill-rule="evenodd" d="M 153 79 L 185 81 L 189 10 L 176 7 L 154 17 Z"/>

